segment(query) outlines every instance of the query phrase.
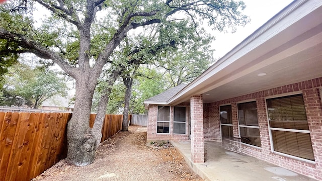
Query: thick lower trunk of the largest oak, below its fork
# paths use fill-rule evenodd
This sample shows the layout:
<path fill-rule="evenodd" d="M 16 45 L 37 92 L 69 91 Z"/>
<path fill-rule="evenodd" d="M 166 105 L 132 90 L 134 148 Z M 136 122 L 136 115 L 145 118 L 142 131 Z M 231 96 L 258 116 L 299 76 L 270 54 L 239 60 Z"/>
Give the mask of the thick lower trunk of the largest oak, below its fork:
<path fill-rule="evenodd" d="M 91 134 L 90 114 L 96 79 L 83 76 L 76 79 L 74 111 L 67 126 L 67 158 L 69 163 L 84 166 L 94 162 L 95 136 Z"/>

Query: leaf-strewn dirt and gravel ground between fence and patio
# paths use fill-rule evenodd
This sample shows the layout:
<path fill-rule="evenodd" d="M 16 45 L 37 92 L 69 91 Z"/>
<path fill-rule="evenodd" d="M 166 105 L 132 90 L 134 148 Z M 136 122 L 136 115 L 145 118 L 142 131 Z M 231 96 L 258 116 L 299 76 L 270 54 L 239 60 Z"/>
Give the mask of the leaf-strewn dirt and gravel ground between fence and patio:
<path fill-rule="evenodd" d="M 146 129 L 130 126 L 101 143 L 94 163 L 78 167 L 61 160 L 32 180 L 203 180 L 175 148 L 145 144 Z"/>

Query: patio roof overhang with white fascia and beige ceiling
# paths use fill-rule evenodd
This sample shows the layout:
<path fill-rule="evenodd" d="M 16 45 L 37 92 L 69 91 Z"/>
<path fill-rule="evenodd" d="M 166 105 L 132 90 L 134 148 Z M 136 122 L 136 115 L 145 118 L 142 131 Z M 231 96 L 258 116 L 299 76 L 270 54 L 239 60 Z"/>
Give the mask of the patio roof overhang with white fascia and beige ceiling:
<path fill-rule="evenodd" d="M 322 76 L 322 3 L 295 1 L 169 100 L 211 103 Z M 267 73 L 258 76 L 259 73 Z"/>

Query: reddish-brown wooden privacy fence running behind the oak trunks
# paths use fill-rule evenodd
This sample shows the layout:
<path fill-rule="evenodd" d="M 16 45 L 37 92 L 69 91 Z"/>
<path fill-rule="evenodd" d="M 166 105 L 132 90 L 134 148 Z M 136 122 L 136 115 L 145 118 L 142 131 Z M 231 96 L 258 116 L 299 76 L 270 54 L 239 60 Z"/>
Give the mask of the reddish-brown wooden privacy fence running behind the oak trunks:
<path fill-rule="evenodd" d="M 70 118 L 71 113 L 0 112 L 0 181 L 30 180 L 65 158 Z M 122 119 L 105 116 L 101 142 L 121 130 Z"/>

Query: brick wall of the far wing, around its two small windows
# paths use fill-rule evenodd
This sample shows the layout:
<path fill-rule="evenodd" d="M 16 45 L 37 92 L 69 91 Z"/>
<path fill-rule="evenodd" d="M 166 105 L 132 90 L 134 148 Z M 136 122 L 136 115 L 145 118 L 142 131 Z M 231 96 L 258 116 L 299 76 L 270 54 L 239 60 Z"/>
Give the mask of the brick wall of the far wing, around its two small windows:
<path fill-rule="evenodd" d="M 170 133 L 156 133 L 157 122 L 157 106 L 149 105 L 148 107 L 148 121 L 147 121 L 147 142 L 157 140 L 189 140 L 189 121 L 190 121 L 190 103 L 182 103 L 177 106 L 186 107 L 186 134 L 174 134 L 173 133 L 173 106 L 170 107 Z"/>

